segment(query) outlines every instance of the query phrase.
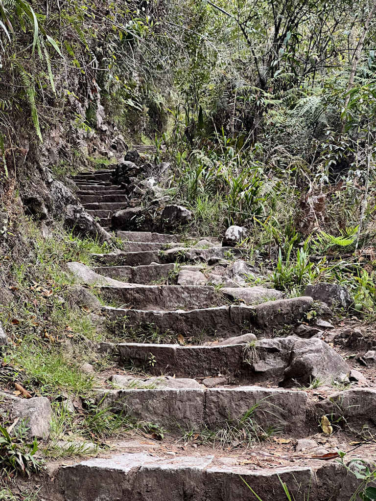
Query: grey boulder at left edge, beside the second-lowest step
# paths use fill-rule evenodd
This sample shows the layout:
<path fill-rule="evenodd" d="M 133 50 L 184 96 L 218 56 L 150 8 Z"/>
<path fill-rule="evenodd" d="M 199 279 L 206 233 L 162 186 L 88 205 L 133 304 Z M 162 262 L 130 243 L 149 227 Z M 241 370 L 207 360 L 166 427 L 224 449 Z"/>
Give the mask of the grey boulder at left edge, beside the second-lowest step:
<path fill-rule="evenodd" d="M 21 398 L 0 392 L 0 409 L 10 420 L 20 418 L 29 437 L 46 439 L 50 434 L 51 405 L 46 397 Z M 17 424 L 20 426 L 21 422 Z"/>

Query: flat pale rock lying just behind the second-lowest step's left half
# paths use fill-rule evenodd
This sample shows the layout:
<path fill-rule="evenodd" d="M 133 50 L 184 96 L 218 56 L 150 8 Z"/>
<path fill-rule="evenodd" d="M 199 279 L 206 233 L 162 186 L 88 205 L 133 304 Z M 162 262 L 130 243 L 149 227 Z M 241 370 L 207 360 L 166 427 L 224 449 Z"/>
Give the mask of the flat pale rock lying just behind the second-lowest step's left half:
<path fill-rule="evenodd" d="M 111 377 L 113 384 L 120 388 L 204 388 L 204 386 L 191 378 L 174 378 L 171 376 L 149 377 L 147 379 L 115 374 Z"/>

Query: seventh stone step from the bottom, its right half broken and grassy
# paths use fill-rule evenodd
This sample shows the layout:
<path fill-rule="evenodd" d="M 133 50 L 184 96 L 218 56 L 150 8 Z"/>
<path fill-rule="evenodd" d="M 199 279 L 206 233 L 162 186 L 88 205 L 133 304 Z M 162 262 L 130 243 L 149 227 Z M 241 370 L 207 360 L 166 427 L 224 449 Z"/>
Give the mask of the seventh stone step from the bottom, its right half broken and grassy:
<path fill-rule="evenodd" d="M 93 207 L 94 208 L 94 207 Z M 175 262 L 208 262 L 215 264 L 223 259 L 239 258 L 241 251 L 232 247 L 174 247 L 167 250 L 148 250 L 145 252 L 118 253 L 118 254 L 93 254 L 94 260 L 101 265 L 109 266 L 144 266 L 152 263 L 175 263 Z"/>

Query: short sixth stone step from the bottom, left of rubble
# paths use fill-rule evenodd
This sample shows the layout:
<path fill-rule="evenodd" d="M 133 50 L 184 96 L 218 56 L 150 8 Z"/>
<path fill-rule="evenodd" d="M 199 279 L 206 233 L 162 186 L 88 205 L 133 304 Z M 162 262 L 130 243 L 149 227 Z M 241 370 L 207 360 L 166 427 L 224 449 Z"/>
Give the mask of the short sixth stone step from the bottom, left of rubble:
<path fill-rule="evenodd" d="M 146 266 L 109 266 L 96 267 L 94 270 L 100 275 L 130 284 L 151 284 L 154 281 L 167 279 L 174 270 L 173 264 L 146 265 Z"/>

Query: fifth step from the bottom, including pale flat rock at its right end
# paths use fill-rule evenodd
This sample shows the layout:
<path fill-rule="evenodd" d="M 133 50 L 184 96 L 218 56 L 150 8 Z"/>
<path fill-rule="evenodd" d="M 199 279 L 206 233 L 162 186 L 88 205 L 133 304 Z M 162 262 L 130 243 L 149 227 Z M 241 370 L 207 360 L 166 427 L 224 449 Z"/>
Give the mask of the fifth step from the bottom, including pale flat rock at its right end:
<path fill-rule="evenodd" d="M 283 296 L 273 289 L 259 287 L 223 288 L 216 291 L 212 286 L 195 285 L 102 287 L 100 293 L 103 299 L 117 305 L 126 304 L 136 309 L 162 311 L 211 308 L 238 301 L 255 305 L 265 303 L 268 299 L 275 299 L 275 294 Z"/>

